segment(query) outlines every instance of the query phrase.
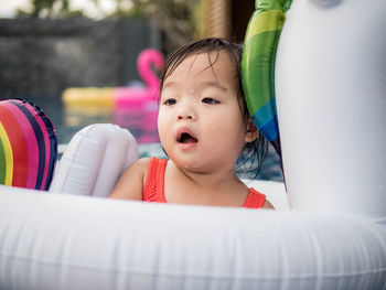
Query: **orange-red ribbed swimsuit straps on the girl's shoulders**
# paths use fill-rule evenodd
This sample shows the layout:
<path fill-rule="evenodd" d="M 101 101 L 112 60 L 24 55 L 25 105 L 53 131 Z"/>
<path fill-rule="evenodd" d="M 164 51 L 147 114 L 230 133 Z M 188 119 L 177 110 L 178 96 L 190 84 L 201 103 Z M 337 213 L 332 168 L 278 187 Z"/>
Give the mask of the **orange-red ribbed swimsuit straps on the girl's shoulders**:
<path fill-rule="evenodd" d="M 165 203 L 164 197 L 164 172 L 167 169 L 168 160 L 151 158 L 148 169 L 148 175 L 144 182 L 142 191 L 142 201 Z M 249 189 L 249 194 L 245 201 L 243 207 L 247 208 L 260 208 L 266 202 L 266 195 L 257 192 L 253 187 Z"/>

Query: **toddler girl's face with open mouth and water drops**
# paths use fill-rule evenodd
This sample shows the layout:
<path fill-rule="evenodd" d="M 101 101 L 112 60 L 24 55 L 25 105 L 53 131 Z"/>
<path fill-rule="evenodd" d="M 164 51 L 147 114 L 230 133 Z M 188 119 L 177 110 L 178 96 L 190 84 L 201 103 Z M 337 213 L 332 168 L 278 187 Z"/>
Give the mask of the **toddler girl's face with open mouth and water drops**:
<path fill-rule="evenodd" d="M 250 141 L 237 100 L 235 66 L 224 52 L 215 58 L 215 53 L 189 56 L 163 83 L 160 140 L 183 170 L 233 170 L 245 142 Z"/>

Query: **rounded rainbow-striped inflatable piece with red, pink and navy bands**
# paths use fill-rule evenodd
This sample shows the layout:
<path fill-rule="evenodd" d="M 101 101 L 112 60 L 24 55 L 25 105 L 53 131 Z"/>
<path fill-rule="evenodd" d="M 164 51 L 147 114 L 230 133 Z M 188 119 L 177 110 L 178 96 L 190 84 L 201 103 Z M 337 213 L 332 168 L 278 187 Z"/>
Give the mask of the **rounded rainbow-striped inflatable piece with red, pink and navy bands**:
<path fill-rule="evenodd" d="M 35 105 L 0 101 L 0 184 L 47 190 L 57 157 L 56 131 Z"/>

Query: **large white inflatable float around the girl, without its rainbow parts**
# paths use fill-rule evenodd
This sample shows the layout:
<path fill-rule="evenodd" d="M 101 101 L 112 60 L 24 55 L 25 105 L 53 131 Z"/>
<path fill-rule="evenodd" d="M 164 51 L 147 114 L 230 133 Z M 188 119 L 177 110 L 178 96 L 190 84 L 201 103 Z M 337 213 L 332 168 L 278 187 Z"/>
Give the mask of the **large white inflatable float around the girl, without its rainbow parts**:
<path fill-rule="evenodd" d="M 0 185 L 0 289 L 386 289 L 385 9 L 288 10 L 275 85 L 288 195 L 245 181 L 276 212 L 104 198 L 138 150 L 93 125 L 50 193 Z"/>

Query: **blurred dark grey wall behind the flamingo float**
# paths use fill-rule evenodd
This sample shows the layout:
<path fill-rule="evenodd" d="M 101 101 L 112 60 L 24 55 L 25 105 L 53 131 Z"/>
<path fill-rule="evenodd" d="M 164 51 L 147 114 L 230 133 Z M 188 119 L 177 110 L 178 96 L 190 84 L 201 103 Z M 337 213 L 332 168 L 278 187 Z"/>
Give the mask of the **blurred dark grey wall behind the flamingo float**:
<path fill-rule="evenodd" d="M 140 51 L 161 46 L 160 32 L 136 19 L 0 20 L 1 97 L 125 86 L 139 79 Z"/>

